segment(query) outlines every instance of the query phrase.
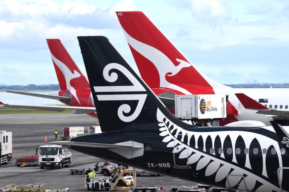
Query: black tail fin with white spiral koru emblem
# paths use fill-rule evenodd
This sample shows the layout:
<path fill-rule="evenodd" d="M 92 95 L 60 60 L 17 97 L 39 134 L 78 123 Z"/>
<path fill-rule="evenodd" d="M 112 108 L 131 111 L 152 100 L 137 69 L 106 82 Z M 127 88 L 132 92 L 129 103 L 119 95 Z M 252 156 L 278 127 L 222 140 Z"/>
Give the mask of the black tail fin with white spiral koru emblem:
<path fill-rule="evenodd" d="M 106 37 L 78 37 L 78 41 L 101 131 L 158 123 L 158 109 L 172 122 L 187 125 L 166 109 Z"/>

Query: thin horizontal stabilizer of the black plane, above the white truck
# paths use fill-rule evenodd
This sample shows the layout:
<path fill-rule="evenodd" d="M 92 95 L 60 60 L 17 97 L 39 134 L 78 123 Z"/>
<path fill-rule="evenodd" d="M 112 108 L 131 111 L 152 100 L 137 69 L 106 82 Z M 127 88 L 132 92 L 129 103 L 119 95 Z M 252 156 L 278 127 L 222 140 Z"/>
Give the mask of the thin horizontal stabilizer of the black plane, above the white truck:
<path fill-rule="evenodd" d="M 70 145 L 70 146 L 81 146 L 81 147 L 94 147 L 100 149 L 119 149 L 119 148 L 131 148 L 131 149 L 142 149 L 143 146 L 130 145 L 120 145 L 120 144 L 104 144 L 104 143 L 82 143 L 82 142 L 72 142 L 72 141 L 55 141 L 50 142 L 59 145 Z"/>

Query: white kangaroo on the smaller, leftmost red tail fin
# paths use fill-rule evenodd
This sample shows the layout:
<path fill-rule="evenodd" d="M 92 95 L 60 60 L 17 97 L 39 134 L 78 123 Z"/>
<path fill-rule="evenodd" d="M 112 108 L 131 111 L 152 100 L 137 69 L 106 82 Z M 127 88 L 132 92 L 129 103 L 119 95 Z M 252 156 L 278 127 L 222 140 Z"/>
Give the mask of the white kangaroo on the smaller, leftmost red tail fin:
<path fill-rule="evenodd" d="M 76 100 L 80 104 L 80 102 L 78 100 L 78 97 L 76 95 L 76 90 L 74 89 L 74 87 L 72 87 L 70 85 L 70 81 L 71 81 L 71 79 L 80 77 L 81 75 L 76 70 L 74 70 L 73 73 L 71 73 L 70 69 L 63 62 L 61 62 L 57 58 L 55 58 L 52 55 L 52 53 L 50 53 L 50 54 L 51 54 L 52 60 L 57 65 L 57 67 L 59 67 L 59 69 L 61 70 L 61 72 L 64 75 L 64 79 L 65 79 L 65 82 L 66 82 L 66 88 L 70 91 L 70 93 L 76 98 Z"/>

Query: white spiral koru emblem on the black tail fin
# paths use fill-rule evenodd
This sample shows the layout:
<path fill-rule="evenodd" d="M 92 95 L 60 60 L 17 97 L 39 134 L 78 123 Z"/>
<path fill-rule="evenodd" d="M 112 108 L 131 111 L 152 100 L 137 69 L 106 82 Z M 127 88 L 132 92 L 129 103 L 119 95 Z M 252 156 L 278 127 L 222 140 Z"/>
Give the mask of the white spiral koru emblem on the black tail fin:
<path fill-rule="evenodd" d="M 141 83 L 126 69 L 124 66 L 118 63 L 110 63 L 106 65 L 103 69 L 103 77 L 107 82 L 115 82 L 118 78 L 117 73 L 113 72 L 109 75 L 109 71 L 112 69 L 117 69 L 122 72 L 133 85 L 129 86 L 94 86 L 95 92 L 135 92 L 135 91 L 146 91 Z M 98 101 L 131 101 L 138 100 L 135 112 L 130 116 L 125 116 L 124 113 L 129 113 L 131 111 L 131 106 L 128 104 L 122 104 L 118 110 L 117 114 L 123 122 L 131 122 L 135 120 L 141 113 L 141 109 L 144 106 L 144 101 L 147 94 L 117 94 L 117 95 L 97 95 Z"/>

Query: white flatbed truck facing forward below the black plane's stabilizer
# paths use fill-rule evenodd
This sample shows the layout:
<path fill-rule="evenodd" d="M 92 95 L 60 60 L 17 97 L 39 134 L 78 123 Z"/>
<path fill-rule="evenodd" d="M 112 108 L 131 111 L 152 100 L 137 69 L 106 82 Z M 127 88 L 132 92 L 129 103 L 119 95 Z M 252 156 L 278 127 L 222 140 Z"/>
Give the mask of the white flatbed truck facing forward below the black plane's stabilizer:
<path fill-rule="evenodd" d="M 36 149 L 36 155 L 37 155 Z M 42 145 L 39 147 L 38 166 L 44 167 L 69 167 L 73 163 L 72 153 L 68 149 L 62 149 L 61 145 Z"/>

